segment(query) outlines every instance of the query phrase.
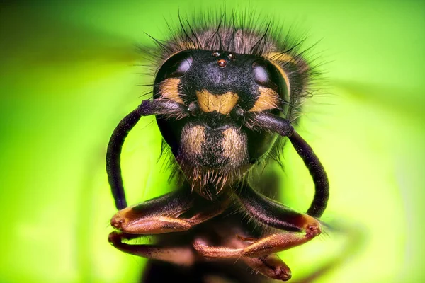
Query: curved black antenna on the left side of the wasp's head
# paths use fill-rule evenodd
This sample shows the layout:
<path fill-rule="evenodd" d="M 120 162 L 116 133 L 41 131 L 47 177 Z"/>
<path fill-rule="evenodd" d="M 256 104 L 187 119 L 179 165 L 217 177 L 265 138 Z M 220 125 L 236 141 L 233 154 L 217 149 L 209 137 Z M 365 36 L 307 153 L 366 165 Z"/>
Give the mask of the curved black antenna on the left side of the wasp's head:
<path fill-rule="evenodd" d="M 144 100 L 139 107 L 132 110 L 115 127 L 106 152 L 106 172 L 108 173 L 108 182 L 111 185 L 111 191 L 117 209 L 127 207 L 120 165 L 121 149 L 123 148 L 125 138 L 128 136 L 128 132 L 135 127 L 140 117 L 154 114 L 175 118 L 188 115 L 186 107 L 179 103 L 170 100 Z"/>

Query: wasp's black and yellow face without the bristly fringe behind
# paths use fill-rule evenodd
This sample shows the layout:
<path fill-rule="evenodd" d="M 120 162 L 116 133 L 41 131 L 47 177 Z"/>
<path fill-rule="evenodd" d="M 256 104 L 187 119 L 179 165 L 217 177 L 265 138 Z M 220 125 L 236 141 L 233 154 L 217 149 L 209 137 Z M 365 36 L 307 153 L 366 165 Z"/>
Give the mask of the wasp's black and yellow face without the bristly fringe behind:
<path fill-rule="evenodd" d="M 190 112 L 181 120 L 157 118 L 186 175 L 220 178 L 243 174 L 271 149 L 276 134 L 244 127 L 244 116 L 249 112 L 285 116 L 280 105 L 288 100 L 288 87 L 278 69 L 262 57 L 186 50 L 159 69 L 154 99 L 173 100 Z"/>

